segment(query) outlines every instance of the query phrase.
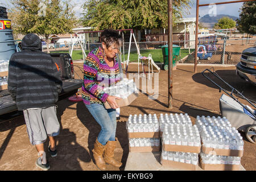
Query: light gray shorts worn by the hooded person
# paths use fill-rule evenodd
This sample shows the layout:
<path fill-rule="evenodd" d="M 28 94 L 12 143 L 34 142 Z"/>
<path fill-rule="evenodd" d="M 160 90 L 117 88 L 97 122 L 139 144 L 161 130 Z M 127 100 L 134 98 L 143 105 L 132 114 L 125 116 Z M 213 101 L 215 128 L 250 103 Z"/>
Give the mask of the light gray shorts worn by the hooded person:
<path fill-rule="evenodd" d="M 32 145 L 46 142 L 48 137 L 60 133 L 60 123 L 56 115 L 56 106 L 23 110 L 27 133 Z"/>

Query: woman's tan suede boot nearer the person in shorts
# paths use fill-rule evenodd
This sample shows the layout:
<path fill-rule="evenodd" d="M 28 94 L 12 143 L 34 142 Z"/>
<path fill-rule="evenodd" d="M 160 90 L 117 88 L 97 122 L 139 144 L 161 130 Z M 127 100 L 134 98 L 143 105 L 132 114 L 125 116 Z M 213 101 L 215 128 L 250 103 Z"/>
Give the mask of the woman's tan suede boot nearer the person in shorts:
<path fill-rule="evenodd" d="M 103 152 L 105 151 L 106 145 L 102 145 L 100 142 L 98 142 L 98 138 L 96 139 L 96 142 L 94 143 L 94 148 L 92 150 L 93 152 L 93 158 L 95 160 L 96 166 L 101 170 L 106 170 L 106 163 L 103 158 Z"/>

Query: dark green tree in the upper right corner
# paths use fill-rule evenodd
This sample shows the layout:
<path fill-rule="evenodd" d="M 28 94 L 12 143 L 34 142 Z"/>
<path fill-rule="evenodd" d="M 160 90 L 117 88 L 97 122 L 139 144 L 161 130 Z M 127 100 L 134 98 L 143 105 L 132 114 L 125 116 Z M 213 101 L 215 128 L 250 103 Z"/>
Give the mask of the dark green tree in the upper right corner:
<path fill-rule="evenodd" d="M 256 1 L 244 2 L 239 19 L 237 19 L 237 29 L 246 34 L 256 34 Z"/>

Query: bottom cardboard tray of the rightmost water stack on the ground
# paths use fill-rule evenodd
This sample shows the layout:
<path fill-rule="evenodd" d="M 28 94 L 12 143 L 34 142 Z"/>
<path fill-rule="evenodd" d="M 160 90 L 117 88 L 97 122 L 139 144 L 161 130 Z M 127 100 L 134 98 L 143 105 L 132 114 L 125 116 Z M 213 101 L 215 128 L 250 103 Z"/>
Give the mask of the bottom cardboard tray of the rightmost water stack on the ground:
<path fill-rule="evenodd" d="M 240 171 L 240 165 L 234 164 L 204 164 L 199 158 L 199 165 L 205 171 Z"/>

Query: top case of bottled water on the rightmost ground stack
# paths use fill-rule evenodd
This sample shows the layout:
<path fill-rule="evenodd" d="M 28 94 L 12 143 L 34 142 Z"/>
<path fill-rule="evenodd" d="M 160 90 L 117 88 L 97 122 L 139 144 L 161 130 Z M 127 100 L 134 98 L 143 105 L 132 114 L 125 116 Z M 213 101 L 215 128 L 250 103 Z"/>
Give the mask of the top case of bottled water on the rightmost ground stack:
<path fill-rule="evenodd" d="M 243 156 L 243 139 L 225 117 L 197 116 L 196 125 L 200 131 L 204 154 Z"/>

